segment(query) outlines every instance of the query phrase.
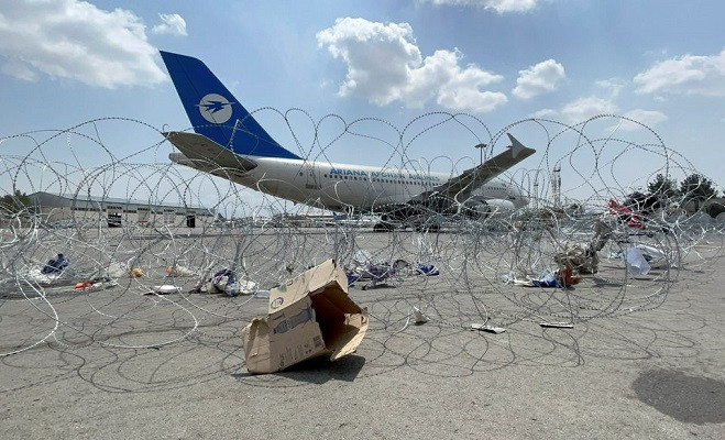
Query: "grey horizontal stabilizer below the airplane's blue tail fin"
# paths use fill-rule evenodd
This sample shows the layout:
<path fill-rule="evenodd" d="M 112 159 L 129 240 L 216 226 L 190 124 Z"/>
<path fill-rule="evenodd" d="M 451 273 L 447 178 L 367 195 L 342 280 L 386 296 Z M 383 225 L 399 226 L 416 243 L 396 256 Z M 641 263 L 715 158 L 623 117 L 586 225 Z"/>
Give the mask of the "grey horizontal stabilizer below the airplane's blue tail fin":
<path fill-rule="evenodd" d="M 168 142 L 174 144 L 184 154 L 182 160 L 175 160 L 175 157 L 169 156 L 174 162 L 199 169 L 205 168 L 205 170 L 206 168 L 227 168 L 238 172 L 249 172 L 256 167 L 254 161 L 234 154 L 231 150 L 224 148 L 202 134 L 182 131 L 172 131 L 163 134 Z M 184 163 L 185 161 L 189 163 Z"/>

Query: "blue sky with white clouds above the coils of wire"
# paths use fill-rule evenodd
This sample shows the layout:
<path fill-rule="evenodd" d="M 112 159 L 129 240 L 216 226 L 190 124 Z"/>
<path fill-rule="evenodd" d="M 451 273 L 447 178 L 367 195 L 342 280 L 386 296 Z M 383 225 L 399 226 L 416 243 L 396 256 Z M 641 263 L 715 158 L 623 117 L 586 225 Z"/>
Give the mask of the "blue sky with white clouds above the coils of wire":
<path fill-rule="evenodd" d="M 574 124 L 625 116 L 655 133 L 608 120 L 587 134 L 616 130 L 639 145 L 661 139 L 722 186 L 723 16 L 716 0 L 0 0 L 0 138 L 106 117 L 187 129 L 157 52 L 165 50 L 201 58 L 250 110 L 299 108 L 312 121 L 337 114 L 403 128 L 449 112 L 496 133 L 527 118 Z M 284 121 L 268 119 L 268 131 L 289 147 Z M 304 114 L 293 119 L 309 136 Z M 158 142 L 134 124 L 100 127 L 117 157 Z M 477 157 L 473 145 L 490 139 L 465 131 L 424 136 L 408 153 Z M 536 127 L 514 132 L 529 146 L 541 141 Z M 28 146 L 3 147 L 20 154 Z M 164 162 L 164 148 L 151 160 Z M 391 152 L 353 138 L 326 155 L 375 164 Z M 633 154 L 616 166 L 631 176 L 641 172 L 638 161 Z"/>

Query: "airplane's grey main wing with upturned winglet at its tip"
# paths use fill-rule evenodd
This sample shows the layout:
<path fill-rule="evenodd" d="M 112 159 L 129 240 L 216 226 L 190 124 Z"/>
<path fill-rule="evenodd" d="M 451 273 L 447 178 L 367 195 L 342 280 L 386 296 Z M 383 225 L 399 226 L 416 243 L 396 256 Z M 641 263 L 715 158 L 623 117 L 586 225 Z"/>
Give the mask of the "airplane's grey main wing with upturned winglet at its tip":
<path fill-rule="evenodd" d="M 463 201 L 471 197 L 471 194 L 479 187 L 536 153 L 536 150 L 524 146 L 516 138 L 506 134 L 512 142 L 507 151 L 498 153 L 476 167 L 464 170 L 442 185 L 417 195 L 410 201 L 425 201 L 436 195 Z"/>

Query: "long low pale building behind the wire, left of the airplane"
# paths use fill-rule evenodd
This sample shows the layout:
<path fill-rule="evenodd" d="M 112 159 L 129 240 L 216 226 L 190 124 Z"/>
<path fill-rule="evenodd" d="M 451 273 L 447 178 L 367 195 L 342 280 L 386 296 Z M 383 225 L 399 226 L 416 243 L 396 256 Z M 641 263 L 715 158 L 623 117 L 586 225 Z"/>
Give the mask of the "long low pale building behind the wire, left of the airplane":
<path fill-rule="evenodd" d="M 29 197 L 35 215 L 58 228 L 86 222 L 101 222 L 109 228 L 131 224 L 200 228 L 211 226 L 216 219 L 209 209 L 185 205 L 42 191 Z"/>

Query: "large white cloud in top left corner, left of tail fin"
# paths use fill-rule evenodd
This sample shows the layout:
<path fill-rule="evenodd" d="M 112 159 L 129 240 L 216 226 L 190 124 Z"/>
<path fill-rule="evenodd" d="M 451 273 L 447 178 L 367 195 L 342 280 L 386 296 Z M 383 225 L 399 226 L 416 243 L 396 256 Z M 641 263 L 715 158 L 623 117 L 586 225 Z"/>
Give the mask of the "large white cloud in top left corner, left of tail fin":
<path fill-rule="evenodd" d="M 37 73 L 117 88 L 166 80 L 143 21 L 123 9 L 106 11 L 76 0 L 18 0 L 0 13 L 3 72 Z"/>

